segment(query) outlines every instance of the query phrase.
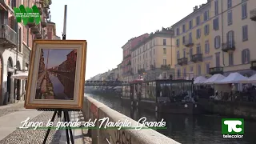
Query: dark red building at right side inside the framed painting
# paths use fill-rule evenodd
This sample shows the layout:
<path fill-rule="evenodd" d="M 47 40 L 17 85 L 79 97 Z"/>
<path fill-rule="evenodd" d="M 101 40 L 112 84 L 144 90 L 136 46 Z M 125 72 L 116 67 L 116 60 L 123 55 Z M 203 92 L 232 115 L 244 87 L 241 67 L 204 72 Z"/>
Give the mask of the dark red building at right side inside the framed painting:
<path fill-rule="evenodd" d="M 66 55 L 67 71 L 74 72 L 77 64 L 77 50 L 72 50 L 70 54 Z M 75 72 L 74 72 L 75 73 Z"/>

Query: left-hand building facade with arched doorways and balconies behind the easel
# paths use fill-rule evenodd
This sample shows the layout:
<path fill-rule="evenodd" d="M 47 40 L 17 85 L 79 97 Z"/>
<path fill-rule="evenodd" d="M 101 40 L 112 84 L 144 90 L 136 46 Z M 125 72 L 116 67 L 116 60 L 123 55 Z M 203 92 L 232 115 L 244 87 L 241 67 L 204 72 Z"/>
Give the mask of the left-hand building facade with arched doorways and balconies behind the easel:
<path fill-rule="evenodd" d="M 41 25 L 36 26 L 34 22 L 24 26 L 22 23 L 17 23 L 14 18 L 14 7 L 21 4 L 24 6 L 33 6 L 33 1 L 1 1 L 0 13 L 2 17 L 0 22 L 0 105 L 21 100 L 22 93 L 25 90 L 26 81 L 13 79 L 11 75 L 18 74 L 29 69 L 30 50 L 34 38 L 43 37 L 43 16 L 49 15 L 48 7 L 42 7 L 39 4 L 38 8 L 42 14 Z M 48 2 L 51 4 L 51 1 Z M 24 98 L 24 97 L 23 97 Z"/>

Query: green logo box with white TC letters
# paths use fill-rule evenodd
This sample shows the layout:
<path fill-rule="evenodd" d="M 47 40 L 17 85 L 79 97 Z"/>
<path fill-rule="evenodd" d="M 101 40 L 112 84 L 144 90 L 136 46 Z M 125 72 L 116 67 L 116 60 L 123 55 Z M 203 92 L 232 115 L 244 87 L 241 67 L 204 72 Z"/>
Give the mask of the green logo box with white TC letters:
<path fill-rule="evenodd" d="M 222 134 L 244 134 L 243 118 L 222 118 Z"/>

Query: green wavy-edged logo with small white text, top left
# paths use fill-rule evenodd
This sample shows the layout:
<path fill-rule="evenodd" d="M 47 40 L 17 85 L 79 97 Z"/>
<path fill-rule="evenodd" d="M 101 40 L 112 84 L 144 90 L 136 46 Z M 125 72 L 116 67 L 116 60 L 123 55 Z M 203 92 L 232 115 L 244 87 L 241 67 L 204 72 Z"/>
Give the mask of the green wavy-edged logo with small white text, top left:
<path fill-rule="evenodd" d="M 40 13 L 37 6 L 26 7 L 21 5 L 18 7 L 14 7 L 14 14 L 17 22 L 22 22 L 26 25 L 28 22 L 34 22 L 38 25 L 41 22 Z"/>

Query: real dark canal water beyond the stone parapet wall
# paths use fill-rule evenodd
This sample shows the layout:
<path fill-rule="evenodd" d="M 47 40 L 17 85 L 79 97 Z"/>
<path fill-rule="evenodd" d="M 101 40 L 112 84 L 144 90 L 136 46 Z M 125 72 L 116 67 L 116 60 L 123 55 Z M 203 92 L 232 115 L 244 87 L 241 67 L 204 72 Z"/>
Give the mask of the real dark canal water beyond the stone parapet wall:
<path fill-rule="evenodd" d="M 118 98 L 104 97 L 94 94 L 86 94 L 91 98 L 104 103 L 111 109 L 133 118 L 146 117 L 147 121 L 166 121 L 167 130 L 158 130 L 182 144 L 256 144 L 256 122 L 245 121 L 245 134 L 243 138 L 222 138 L 222 118 L 218 115 L 189 116 L 183 114 L 154 114 L 139 110 L 131 110 L 121 106 Z"/>

